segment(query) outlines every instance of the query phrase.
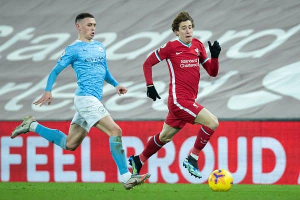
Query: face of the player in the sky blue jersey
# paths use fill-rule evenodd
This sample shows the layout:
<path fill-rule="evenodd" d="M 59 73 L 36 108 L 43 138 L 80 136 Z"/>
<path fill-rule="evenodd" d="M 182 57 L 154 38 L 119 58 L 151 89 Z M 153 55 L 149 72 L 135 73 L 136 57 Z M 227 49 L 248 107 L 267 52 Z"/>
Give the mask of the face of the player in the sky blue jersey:
<path fill-rule="evenodd" d="M 76 24 L 76 27 L 78 29 L 79 39 L 82 41 L 90 41 L 95 34 L 96 21 L 94 18 L 85 17 Z"/>

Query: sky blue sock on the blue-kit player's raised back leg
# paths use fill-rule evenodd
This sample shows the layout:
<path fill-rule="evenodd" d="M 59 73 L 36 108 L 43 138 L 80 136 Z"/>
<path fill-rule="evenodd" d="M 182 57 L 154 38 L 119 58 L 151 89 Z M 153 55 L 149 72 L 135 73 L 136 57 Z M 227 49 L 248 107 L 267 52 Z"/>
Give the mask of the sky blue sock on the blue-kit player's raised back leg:
<path fill-rule="evenodd" d="M 66 135 L 57 129 L 47 128 L 43 125 L 37 124 L 35 132 L 45 138 L 46 140 L 57 144 L 63 149 L 66 149 Z"/>

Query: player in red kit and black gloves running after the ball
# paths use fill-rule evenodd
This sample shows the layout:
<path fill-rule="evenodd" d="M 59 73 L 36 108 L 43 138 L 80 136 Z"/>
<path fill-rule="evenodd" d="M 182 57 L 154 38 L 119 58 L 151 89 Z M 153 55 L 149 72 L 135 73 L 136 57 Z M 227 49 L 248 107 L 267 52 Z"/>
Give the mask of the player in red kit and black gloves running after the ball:
<path fill-rule="evenodd" d="M 201 41 L 192 37 L 194 22 L 186 11 L 181 11 L 172 22 L 172 30 L 178 36 L 152 52 L 143 64 L 147 96 L 160 99 L 152 80 L 152 66 L 166 60 L 169 75 L 168 113 L 160 133 L 149 139 L 139 155 L 131 155 L 129 164 L 132 173 L 139 173 L 142 164 L 186 124 L 201 124 L 191 152 L 183 161 L 191 175 L 201 177 L 198 169 L 198 154 L 218 126 L 218 119 L 202 105 L 195 102 L 200 79 L 201 64 L 210 76 L 218 72 L 218 55 L 221 47 L 217 41 L 208 41 L 211 58 L 207 57 Z"/>

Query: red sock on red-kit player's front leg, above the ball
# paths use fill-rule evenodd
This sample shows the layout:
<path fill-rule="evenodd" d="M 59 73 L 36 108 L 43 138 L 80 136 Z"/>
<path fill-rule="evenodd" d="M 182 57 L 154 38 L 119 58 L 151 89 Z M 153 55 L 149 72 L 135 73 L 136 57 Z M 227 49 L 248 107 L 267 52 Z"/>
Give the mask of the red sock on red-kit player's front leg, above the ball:
<path fill-rule="evenodd" d="M 194 146 L 191 149 L 191 153 L 198 155 L 200 150 L 204 148 L 210 136 L 213 134 L 214 130 L 207 126 L 202 125 L 198 131 Z"/>

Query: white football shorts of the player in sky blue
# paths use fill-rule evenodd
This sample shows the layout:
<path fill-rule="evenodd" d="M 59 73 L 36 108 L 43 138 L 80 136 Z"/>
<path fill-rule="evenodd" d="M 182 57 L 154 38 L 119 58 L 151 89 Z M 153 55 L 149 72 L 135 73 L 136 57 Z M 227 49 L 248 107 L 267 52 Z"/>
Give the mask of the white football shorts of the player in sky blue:
<path fill-rule="evenodd" d="M 71 124 L 76 123 L 87 132 L 98 120 L 109 115 L 101 101 L 94 96 L 75 95 L 74 106 L 76 112 Z"/>

